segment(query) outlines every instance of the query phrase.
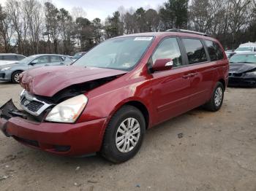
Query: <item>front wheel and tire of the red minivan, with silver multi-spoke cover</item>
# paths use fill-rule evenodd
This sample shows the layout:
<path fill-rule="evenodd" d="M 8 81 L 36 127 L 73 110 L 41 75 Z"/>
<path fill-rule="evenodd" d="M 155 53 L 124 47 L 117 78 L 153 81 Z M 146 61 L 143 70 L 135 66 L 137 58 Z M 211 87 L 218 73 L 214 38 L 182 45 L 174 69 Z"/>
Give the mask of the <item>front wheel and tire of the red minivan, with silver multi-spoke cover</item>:
<path fill-rule="evenodd" d="M 127 133 L 125 133 L 126 130 Z M 138 133 L 138 131 L 140 132 Z M 131 159 L 139 151 L 145 131 L 146 122 L 140 110 L 135 106 L 121 107 L 113 115 L 105 130 L 102 156 L 113 163 L 124 163 Z"/>

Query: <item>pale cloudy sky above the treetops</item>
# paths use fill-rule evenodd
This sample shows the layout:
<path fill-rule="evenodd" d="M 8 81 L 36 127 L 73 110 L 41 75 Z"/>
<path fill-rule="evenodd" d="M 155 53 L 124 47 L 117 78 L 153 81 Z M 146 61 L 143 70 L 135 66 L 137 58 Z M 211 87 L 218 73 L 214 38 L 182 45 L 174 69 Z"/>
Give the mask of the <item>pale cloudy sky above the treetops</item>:
<path fill-rule="evenodd" d="M 6 0 L 0 0 L 1 4 L 4 4 Z M 86 12 L 86 17 L 89 20 L 93 20 L 95 17 L 99 17 L 101 20 L 105 20 L 108 15 L 112 15 L 118 7 L 124 6 L 125 9 L 133 7 L 137 9 L 143 7 L 145 9 L 153 8 L 157 9 L 159 6 L 167 0 L 50 0 L 56 7 L 64 8 L 72 11 L 72 7 L 82 7 Z"/>

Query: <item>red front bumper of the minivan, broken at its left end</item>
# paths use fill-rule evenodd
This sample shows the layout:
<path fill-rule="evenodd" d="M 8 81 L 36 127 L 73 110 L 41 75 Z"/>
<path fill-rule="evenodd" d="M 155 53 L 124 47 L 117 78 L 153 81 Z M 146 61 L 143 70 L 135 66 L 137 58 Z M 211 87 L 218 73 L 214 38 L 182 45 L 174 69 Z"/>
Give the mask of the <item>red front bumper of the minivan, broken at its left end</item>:
<path fill-rule="evenodd" d="M 77 124 L 35 122 L 15 109 L 8 104 L 0 108 L 0 129 L 26 146 L 69 156 L 86 155 L 101 148 L 107 118 Z"/>

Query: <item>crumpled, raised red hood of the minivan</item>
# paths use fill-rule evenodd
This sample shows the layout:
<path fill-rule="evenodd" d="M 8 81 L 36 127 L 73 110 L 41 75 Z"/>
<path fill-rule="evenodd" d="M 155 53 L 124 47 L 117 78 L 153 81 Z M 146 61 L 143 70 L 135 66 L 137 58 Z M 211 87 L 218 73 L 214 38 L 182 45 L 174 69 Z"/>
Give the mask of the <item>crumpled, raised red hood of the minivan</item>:
<path fill-rule="evenodd" d="M 20 85 L 29 93 L 52 97 L 71 85 L 126 73 L 127 71 L 81 66 L 48 66 L 20 74 Z"/>

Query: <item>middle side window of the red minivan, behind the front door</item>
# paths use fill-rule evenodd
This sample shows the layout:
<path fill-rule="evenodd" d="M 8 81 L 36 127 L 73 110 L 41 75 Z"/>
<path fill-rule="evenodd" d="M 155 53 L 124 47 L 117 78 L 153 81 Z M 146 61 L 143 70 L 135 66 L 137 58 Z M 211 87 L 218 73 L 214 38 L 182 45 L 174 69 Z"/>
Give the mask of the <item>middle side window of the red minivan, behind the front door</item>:
<path fill-rule="evenodd" d="M 206 62 L 206 51 L 199 39 L 182 39 L 189 64 Z"/>

